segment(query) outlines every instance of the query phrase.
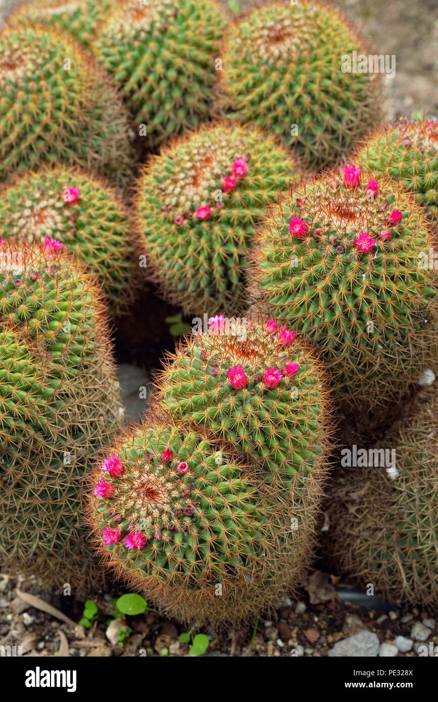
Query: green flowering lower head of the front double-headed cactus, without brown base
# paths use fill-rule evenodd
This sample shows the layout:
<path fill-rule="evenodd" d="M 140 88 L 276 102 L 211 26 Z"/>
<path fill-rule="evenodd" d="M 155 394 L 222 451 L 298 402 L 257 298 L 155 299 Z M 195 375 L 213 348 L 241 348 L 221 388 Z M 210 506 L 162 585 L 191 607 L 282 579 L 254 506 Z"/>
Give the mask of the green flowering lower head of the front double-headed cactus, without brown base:
<path fill-rule="evenodd" d="M 249 572 L 261 558 L 268 515 L 255 481 L 224 451 L 218 464 L 214 442 L 199 432 L 155 420 L 119 439 L 105 465 L 93 475 L 91 503 L 121 574 L 199 587 L 227 568 Z"/>

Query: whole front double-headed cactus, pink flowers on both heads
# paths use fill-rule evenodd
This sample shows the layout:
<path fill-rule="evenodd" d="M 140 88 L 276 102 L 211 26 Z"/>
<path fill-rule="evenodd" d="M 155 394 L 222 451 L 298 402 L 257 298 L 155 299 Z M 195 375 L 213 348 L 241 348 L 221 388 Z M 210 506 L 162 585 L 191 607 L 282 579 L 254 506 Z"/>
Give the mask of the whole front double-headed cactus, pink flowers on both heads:
<path fill-rule="evenodd" d="M 88 510 L 119 576 L 213 626 L 254 618 L 300 583 L 329 434 L 324 376 L 295 335 L 269 320 L 242 339 L 225 324 L 170 359 L 150 416 L 97 466 Z"/>

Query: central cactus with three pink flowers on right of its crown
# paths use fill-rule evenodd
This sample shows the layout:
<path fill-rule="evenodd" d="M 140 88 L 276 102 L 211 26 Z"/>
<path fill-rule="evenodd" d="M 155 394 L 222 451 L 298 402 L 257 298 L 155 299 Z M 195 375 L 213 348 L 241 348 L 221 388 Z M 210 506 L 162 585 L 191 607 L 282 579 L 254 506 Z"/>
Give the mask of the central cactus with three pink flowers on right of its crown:
<path fill-rule="evenodd" d="M 254 127 L 201 128 L 152 157 L 135 209 L 149 270 L 165 296 L 187 314 L 244 305 L 253 225 L 297 176 L 284 147 Z"/>

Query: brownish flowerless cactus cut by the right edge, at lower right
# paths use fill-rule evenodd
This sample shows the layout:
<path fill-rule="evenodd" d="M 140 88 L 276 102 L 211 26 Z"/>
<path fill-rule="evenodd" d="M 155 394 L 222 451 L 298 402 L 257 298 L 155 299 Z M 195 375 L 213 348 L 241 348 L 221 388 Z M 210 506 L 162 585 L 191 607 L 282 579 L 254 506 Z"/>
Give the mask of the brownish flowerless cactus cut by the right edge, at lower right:
<path fill-rule="evenodd" d="M 437 428 L 435 390 L 375 449 L 389 469 L 340 468 L 330 490 L 328 562 L 391 602 L 438 602 Z"/>

